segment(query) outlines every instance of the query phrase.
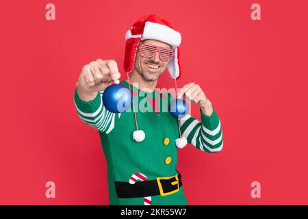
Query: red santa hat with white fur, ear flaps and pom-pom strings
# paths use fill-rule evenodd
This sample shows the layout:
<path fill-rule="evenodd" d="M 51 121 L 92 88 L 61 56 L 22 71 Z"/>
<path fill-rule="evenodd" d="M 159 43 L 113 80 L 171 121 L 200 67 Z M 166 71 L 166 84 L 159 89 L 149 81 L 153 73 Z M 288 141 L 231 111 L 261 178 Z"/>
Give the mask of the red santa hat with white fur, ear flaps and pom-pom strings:
<path fill-rule="evenodd" d="M 127 79 L 129 81 L 129 75 L 135 67 L 135 57 L 138 44 L 141 40 L 159 40 L 170 44 L 175 55 L 168 63 L 167 69 L 170 73 L 170 77 L 175 79 L 176 93 L 177 93 L 177 79 L 181 75 L 181 68 L 179 65 L 179 45 L 181 44 L 181 34 L 176 31 L 171 23 L 155 14 L 142 16 L 132 26 L 131 29 L 125 34 L 126 46 L 125 46 L 125 59 L 124 69 L 127 73 Z M 129 89 L 130 82 L 129 82 Z M 177 95 L 177 94 L 176 94 Z M 138 122 L 136 118 L 136 110 L 133 105 L 133 112 L 136 121 L 136 131 L 133 132 L 133 139 L 136 142 L 142 142 L 145 138 L 145 133 L 138 129 Z M 179 148 L 183 148 L 187 144 L 187 140 L 181 136 L 181 130 L 179 128 L 179 138 L 175 141 Z"/>

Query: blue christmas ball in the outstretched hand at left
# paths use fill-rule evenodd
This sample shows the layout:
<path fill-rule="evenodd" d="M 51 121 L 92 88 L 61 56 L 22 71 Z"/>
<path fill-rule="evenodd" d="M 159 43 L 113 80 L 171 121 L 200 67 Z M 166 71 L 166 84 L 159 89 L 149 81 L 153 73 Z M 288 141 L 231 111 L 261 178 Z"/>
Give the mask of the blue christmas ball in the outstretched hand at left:
<path fill-rule="evenodd" d="M 116 81 L 103 92 L 104 107 L 114 113 L 125 112 L 133 101 L 133 95 L 129 88 Z"/>

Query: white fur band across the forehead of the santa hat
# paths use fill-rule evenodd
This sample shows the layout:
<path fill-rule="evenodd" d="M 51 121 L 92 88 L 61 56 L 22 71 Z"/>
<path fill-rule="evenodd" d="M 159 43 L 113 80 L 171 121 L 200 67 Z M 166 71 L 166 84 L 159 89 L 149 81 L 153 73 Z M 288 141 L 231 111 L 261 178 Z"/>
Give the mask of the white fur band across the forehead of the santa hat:
<path fill-rule="evenodd" d="M 181 44 L 181 34 L 178 31 L 159 23 L 146 21 L 142 34 L 142 40 L 159 40 L 166 42 L 173 47 Z"/>

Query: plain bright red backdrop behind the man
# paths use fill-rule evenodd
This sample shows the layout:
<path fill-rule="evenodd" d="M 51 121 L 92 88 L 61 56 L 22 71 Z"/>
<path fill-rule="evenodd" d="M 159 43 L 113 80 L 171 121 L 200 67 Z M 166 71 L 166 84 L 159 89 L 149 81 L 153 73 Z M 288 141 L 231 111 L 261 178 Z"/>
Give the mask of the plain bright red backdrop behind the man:
<path fill-rule="evenodd" d="M 45 5 L 55 4 L 55 21 Z M 251 20 L 251 4 L 261 21 Z M 73 104 L 82 66 L 114 59 L 143 14 L 183 37 L 179 85 L 199 83 L 224 149 L 179 152 L 190 205 L 308 204 L 307 1 L 5 1 L 1 23 L 0 204 L 107 205 L 99 133 Z M 121 79 L 124 79 L 124 74 Z M 165 73 L 158 87 L 172 86 Z M 198 116 L 194 107 L 192 114 Z M 56 198 L 45 197 L 55 182 Z M 251 197 L 251 182 L 261 198 Z"/>

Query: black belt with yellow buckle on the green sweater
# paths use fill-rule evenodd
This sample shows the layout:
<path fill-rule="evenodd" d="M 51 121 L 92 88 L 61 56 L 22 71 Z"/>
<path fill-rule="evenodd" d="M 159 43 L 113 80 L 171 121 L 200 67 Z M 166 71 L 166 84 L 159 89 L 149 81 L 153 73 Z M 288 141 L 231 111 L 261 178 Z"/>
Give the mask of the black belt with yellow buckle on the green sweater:
<path fill-rule="evenodd" d="M 119 198 L 139 198 L 146 196 L 168 196 L 179 192 L 181 175 L 157 177 L 155 180 L 138 181 L 134 184 L 116 181 L 116 194 Z"/>

